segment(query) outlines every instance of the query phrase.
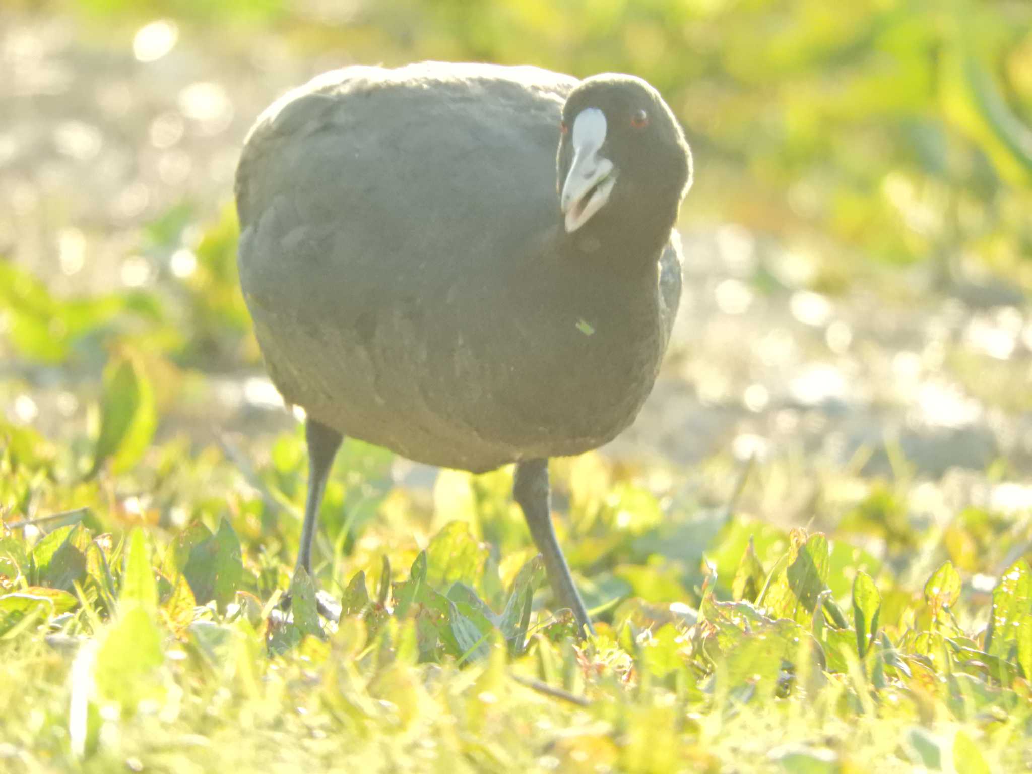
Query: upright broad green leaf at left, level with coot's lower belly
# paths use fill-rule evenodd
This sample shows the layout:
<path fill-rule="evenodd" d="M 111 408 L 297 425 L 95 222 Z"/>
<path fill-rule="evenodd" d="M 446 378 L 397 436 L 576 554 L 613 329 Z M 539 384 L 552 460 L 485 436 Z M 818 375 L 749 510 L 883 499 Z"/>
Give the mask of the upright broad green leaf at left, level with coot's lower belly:
<path fill-rule="evenodd" d="M 100 434 L 87 478 L 108 459 L 116 473 L 128 471 L 143 455 L 157 425 L 154 391 L 136 357 L 117 356 L 104 369 L 103 382 Z"/>

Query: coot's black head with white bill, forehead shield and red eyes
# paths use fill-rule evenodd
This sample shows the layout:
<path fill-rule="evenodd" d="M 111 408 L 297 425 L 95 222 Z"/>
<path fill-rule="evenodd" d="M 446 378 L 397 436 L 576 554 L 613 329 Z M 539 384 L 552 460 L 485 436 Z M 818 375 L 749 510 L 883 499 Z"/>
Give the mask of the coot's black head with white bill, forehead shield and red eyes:
<path fill-rule="evenodd" d="M 562 108 L 562 226 L 585 252 L 655 259 L 691 183 L 691 154 L 659 93 L 633 75 L 584 79 Z"/>

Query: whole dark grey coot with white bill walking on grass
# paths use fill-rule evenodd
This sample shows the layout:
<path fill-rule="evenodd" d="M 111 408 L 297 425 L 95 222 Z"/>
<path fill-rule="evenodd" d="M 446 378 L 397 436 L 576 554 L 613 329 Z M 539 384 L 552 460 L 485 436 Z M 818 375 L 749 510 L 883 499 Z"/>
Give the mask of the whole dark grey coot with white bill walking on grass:
<path fill-rule="evenodd" d="M 297 569 L 345 433 L 474 473 L 515 462 L 552 589 L 590 631 L 548 458 L 610 441 L 651 390 L 690 179 L 673 114 L 631 75 L 355 66 L 270 105 L 236 174 L 239 270 L 272 382 L 307 413 Z"/>

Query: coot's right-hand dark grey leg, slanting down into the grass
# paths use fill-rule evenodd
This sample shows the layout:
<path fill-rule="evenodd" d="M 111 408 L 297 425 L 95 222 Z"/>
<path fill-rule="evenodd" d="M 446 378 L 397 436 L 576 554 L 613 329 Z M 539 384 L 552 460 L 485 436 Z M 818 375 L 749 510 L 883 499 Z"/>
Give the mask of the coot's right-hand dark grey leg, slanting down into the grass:
<path fill-rule="evenodd" d="M 559 543 L 555 539 L 555 528 L 552 526 L 551 490 L 548 483 L 548 460 L 528 459 L 516 465 L 516 481 L 513 483 L 513 496 L 523 509 L 523 517 L 530 527 L 530 535 L 545 559 L 545 570 L 552 591 L 558 598 L 559 604 L 574 612 L 577 619 L 577 630 L 581 637 L 585 628 L 594 634 L 591 619 L 588 618 L 584 602 L 574 585 L 570 575 L 570 567 L 562 555 Z"/>

